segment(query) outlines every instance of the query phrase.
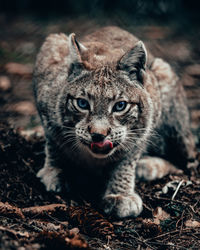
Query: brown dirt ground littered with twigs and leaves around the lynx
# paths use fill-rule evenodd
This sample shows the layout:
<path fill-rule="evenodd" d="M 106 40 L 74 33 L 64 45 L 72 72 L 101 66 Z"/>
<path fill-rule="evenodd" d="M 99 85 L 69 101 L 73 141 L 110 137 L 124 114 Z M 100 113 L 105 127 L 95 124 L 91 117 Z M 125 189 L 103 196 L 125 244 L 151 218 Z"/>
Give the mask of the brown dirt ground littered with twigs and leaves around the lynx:
<path fill-rule="evenodd" d="M 50 33 L 78 37 L 116 24 L 145 42 L 178 72 L 200 150 L 200 30 L 123 20 L 41 21 L 0 16 L 0 249 L 200 249 L 200 167 L 137 183 L 144 201 L 138 218 L 105 217 L 86 201 L 45 191 L 36 178 L 44 137 L 32 94 L 36 54 Z M 187 32 L 186 32 L 187 30 Z M 199 157 L 200 160 L 200 157 Z"/>

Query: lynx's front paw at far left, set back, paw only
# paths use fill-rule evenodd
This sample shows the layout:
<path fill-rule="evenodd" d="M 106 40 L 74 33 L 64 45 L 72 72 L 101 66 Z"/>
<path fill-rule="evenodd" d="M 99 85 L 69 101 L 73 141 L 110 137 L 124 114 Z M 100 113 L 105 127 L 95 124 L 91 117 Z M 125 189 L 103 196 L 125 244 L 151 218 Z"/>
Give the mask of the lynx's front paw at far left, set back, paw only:
<path fill-rule="evenodd" d="M 37 173 L 37 177 L 45 185 L 47 191 L 60 192 L 62 189 L 58 175 L 61 170 L 53 167 L 43 167 Z"/>

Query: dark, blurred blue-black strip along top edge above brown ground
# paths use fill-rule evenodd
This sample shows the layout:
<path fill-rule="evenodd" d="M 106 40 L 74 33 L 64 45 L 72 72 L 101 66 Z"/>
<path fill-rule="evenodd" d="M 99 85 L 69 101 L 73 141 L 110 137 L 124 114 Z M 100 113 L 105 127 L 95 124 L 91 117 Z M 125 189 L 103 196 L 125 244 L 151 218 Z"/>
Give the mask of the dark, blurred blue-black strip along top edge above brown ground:
<path fill-rule="evenodd" d="M 40 18 L 88 15 L 94 18 L 126 15 L 134 22 L 151 20 L 199 22 L 199 1 L 195 0 L 1 0 L 0 12 L 9 18 L 34 14 Z"/>

